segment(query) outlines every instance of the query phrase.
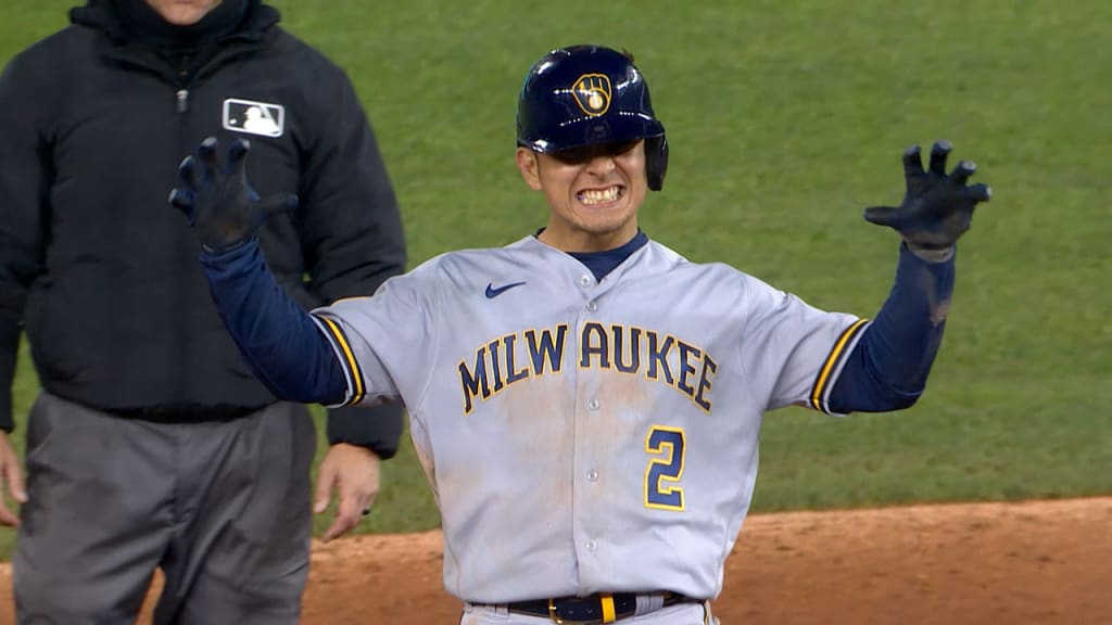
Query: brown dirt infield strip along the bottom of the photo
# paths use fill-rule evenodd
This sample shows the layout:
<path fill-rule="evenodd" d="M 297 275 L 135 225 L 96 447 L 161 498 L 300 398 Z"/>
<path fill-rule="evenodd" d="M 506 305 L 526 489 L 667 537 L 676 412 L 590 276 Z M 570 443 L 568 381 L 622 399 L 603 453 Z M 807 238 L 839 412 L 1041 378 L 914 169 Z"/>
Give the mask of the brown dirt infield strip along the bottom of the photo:
<path fill-rule="evenodd" d="M 0 567 L 0 624 L 13 623 Z M 724 625 L 1112 624 L 1112 498 L 751 516 Z M 439 533 L 316 545 L 305 625 L 457 623 Z M 140 623 L 146 623 L 146 618 Z"/>

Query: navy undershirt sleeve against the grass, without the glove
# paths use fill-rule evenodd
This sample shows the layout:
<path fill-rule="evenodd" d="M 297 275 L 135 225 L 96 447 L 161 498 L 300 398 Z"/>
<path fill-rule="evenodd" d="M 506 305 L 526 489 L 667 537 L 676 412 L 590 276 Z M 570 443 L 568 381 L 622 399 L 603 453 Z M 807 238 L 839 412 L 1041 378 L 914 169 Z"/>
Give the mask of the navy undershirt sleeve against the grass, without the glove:
<path fill-rule="evenodd" d="M 939 353 L 953 290 L 953 256 L 930 262 L 901 245 L 895 284 L 846 357 L 831 389 L 831 411 L 877 413 L 914 404 Z"/>

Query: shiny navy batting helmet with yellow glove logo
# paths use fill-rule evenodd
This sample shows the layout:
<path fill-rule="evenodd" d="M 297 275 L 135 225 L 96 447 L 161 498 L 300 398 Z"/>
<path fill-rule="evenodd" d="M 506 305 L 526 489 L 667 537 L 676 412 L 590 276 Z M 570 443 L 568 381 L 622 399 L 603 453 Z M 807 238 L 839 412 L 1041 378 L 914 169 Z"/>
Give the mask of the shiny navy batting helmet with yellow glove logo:
<path fill-rule="evenodd" d="M 648 85 L 627 54 L 573 46 L 545 54 L 525 77 L 517 102 L 517 145 L 549 153 L 645 140 L 648 188 L 661 190 L 668 167 L 664 125 Z"/>

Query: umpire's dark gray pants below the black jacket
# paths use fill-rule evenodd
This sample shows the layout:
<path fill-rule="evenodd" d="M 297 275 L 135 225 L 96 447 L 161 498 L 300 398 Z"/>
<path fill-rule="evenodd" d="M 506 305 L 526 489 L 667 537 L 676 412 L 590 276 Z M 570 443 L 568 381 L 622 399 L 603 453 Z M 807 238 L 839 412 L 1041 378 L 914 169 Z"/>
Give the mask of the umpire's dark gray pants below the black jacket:
<path fill-rule="evenodd" d="M 227 423 L 121 419 L 43 394 L 12 560 L 19 625 L 294 625 L 309 567 L 308 410 Z"/>

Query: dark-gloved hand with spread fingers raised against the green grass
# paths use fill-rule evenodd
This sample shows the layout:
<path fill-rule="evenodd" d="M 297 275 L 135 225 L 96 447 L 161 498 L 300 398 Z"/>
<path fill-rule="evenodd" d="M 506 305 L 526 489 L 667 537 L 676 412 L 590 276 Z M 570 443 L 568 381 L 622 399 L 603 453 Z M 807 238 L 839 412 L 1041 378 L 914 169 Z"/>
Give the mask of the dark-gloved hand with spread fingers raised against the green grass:
<path fill-rule="evenodd" d="M 904 152 L 904 178 L 907 182 L 898 207 L 881 206 L 865 209 L 865 219 L 897 230 L 907 247 L 919 250 L 944 250 L 970 229 L 977 202 L 989 201 L 992 190 L 986 185 L 966 186 L 976 171 L 973 162 L 963 160 L 946 176 L 946 157 L 953 147 L 940 140 L 931 148 L 930 169 L 923 170 L 919 146 Z"/>

